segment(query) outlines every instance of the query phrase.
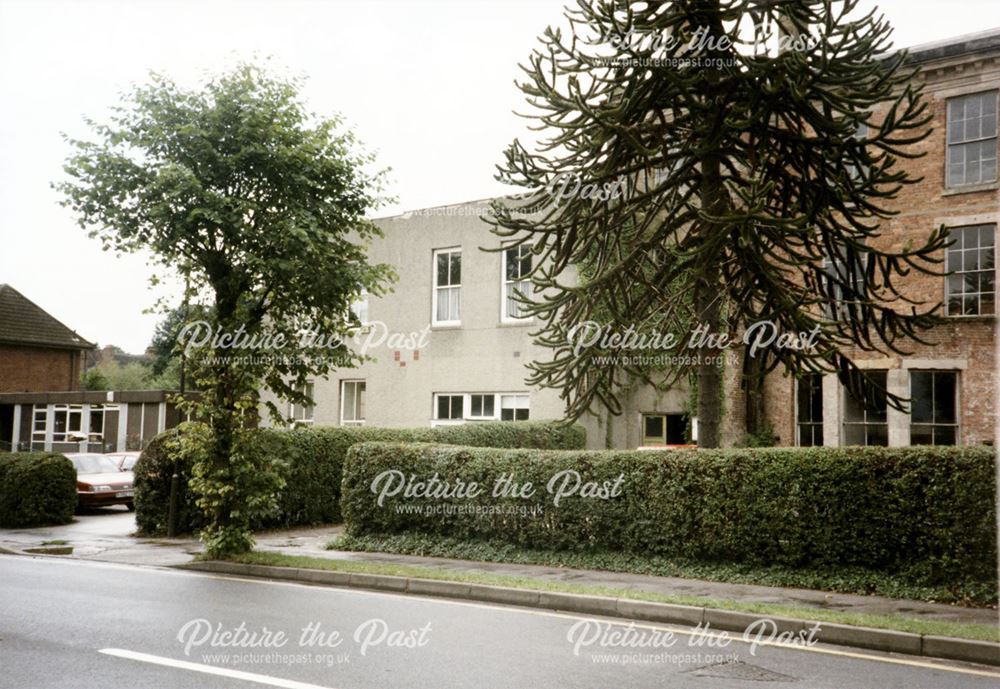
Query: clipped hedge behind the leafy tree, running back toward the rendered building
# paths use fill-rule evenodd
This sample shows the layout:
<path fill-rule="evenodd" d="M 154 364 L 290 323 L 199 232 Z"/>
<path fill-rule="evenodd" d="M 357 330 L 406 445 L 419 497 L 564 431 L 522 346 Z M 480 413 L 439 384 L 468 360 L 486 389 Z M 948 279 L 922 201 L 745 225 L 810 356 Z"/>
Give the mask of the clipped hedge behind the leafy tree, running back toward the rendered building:
<path fill-rule="evenodd" d="M 135 507 L 139 532 L 160 535 L 167 531 L 170 477 L 174 458 L 166 443 L 179 431 L 156 436 L 135 466 Z M 316 427 L 258 429 L 254 445 L 277 455 L 287 466 L 285 489 L 278 512 L 254 524 L 255 529 L 332 524 L 341 520 L 340 484 L 344 459 L 351 446 L 361 442 L 435 442 L 470 447 L 527 447 L 579 449 L 586 443 L 580 426 L 551 422 L 490 422 L 438 428 Z M 187 490 L 190 466 L 176 467 L 180 475 L 178 533 L 191 533 L 203 525 L 195 497 Z"/>

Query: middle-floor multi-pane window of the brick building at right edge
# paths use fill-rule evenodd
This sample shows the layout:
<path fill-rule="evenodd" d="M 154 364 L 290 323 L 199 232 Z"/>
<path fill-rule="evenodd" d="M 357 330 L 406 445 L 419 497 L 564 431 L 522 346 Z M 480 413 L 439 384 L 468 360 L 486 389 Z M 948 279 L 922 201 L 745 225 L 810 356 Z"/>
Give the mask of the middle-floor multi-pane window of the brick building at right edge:
<path fill-rule="evenodd" d="M 996 310 L 996 225 L 955 227 L 945 271 L 945 308 L 949 316 L 978 316 Z"/>

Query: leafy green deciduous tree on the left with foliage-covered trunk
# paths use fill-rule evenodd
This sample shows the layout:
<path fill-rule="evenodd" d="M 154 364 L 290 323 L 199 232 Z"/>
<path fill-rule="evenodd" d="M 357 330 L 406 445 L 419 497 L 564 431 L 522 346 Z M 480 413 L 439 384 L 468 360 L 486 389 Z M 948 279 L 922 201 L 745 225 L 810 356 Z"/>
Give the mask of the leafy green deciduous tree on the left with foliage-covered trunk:
<path fill-rule="evenodd" d="M 311 403 L 308 378 L 358 359 L 344 345 L 351 303 L 392 275 L 366 255 L 382 175 L 338 119 L 305 110 L 299 86 L 253 65 L 194 91 L 154 75 L 110 123 L 90 122 L 96 141 L 70 141 L 58 185 L 91 236 L 150 251 L 195 304 L 180 344 L 210 430 L 190 449 L 212 554 L 252 547 L 251 515 L 280 483 L 242 430 L 256 425 L 259 391 Z"/>

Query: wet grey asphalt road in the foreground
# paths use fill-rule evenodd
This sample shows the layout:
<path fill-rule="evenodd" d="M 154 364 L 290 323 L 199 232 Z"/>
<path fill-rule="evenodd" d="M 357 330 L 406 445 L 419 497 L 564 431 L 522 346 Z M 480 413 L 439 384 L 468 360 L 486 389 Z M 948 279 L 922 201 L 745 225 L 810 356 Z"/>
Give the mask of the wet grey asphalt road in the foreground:
<path fill-rule="evenodd" d="M 0 687 L 11 689 L 1000 686 L 1000 673 L 972 665 L 822 645 L 751 653 L 739 640 L 691 645 L 690 631 L 0 556 Z"/>

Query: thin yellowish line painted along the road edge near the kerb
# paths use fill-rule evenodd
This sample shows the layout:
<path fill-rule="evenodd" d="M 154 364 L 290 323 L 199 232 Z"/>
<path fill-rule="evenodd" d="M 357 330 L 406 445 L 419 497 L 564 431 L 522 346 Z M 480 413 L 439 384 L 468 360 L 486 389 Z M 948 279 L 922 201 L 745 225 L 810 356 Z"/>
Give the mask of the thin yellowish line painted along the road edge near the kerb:
<path fill-rule="evenodd" d="M 585 615 L 572 615 L 572 614 L 568 614 L 568 613 L 554 612 L 554 611 L 549 611 L 549 610 L 533 610 L 531 608 L 521 608 L 521 607 L 509 606 L 509 605 L 494 605 L 492 603 L 477 603 L 477 602 L 472 602 L 472 601 L 458 601 L 458 600 L 452 600 L 452 599 L 449 599 L 449 598 L 438 598 L 438 597 L 435 597 L 435 596 L 423 596 L 423 595 L 417 595 L 417 594 L 387 593 L 385 591 L 366 591 L 364 589 L 356 589 L 356 588 L 351 588 L 351 587 L 317 586 L 317 585 L 314 585 L 314 584 L 302 584 L 302 583 L 298 583 L 298 582 L 294 582 L 294 581 L 273 581 L 273 580 L 270 580 L 270 579 L 259 579 L 259 578 L 245 577 L 245 576 L 239 576 L 239 575 L 212 574 L 212 573 L 207 573 L 207 572 L 198 572 L 196 570 L 178 570 L 178 569 L 167 569 L 167 568 L 160 568 L 160 567 L 125 565 L 125 564 L 119 564 L 119 563 L 104 563 L 104 562 L 93 562 L 93 561 L 82 561 L 82 560 L 48 560 L 48 559 L 35 559 L 35 558 L 31 558 L 30 560 L 22 560 L 22 561 L 27 561 L 27 562 L 57 562 L 57 563 L 60 563 L 60 564 L 90 565 L 90 566 L 97 566 L 97 567 L 105 566 L 105 567 L 110 567 L 110 568 L 115 568 L 115 569 L 137 569 L 138 568 L 138 569 L 153 570 L 153 571 L 159 572 L 161 574 L 172 574 L 172 575 L 180 575 L 180 576 L 195 576 L 195 577 L 200 577 L 200 578 L 205 578 L 205 579 L 216 579 L 218 581 L 234 581 L 234 580 L 236 580 L 236 581 L 241 581 L 241 582 L 248 583 L 248 584 L 257 584 L 257 585 L 261 585 L 261 586 L 291 586 L 291 587 L 295 587 L 295 588 L 311 589 L 313 591 L 330 591 L 330 592 L 333 592 L 333 593 L 349 593 L 349 594 L 353 593 L 353 594 L 357 594 L 357 595 L 380 596 L 380 597 L 388 597 L 388 598 L 395 598 L 395 599 L 398 599 L 398 598 L 408 598 L 408 599 L 412 600 L 412 599 L 416 598 L 416 599 L 423 600 L 423 601 L 426 601 L 426 602 L 433 601 L 433 602 L 441 603 L 441 604 L 444 604 L 444 605 L 462 605 L 462 606 L 466 606 L 466 607 L 482 608 L 482 609 L 487 609 L 487 610 L 499 610 L 499 611 L 503 611 L 503 612 L 507 612 L 507 613 L 516 613 L 516 614 L 521 614 L 521 615 L 535 615 L 535 616 L 538 616 L 538 617 L 550 617 L 550 618 L 558 618 L 558 619 L 566 619 L 566 620 L 595 619 L 595 618 L 599 618 L 600 617 L 598 615 L 591 615 L 591 616 L 588 617 L 588 616 L 585 616 Z M 605 619 L 605 618 L 601 618 L 601 619 Z M 684 629 L 684 628 L 680 628 L 680 627 L 655 625 L 655 624 L 648 624 L 648 623 L 643 623 L 643 622 L 638 622 L 638 621 L 631 621 L 631 620 L 605 619 L 605 621 L 609 622 L 610 624 L 615 624 L 615 625 L 618 625 L 618 626 L 628 626 L 628 625 L 631 624 L 631 625 L 634 625 L 635 627 L 642 628 L 642 629 L 672 631 L 674 633 L 687 634 L 689 636 L 693 636 L 693 635 L 696 635 L 696 634 L 700 633 L 700 632 L 697 632 L 697 631 L 694 631 L 694 630 Z M 746 643 L 746 644 L 751 643 L 749 641 L 743 641 L 743 639 L 740 638 L 740 637 L 733 637 L 733 640 L 734 641 L 738 641 L 740 643 Z M 955 666 L 951 666 L 951 665 L 941 665 L 941 664 L 938 664 L 938 663 L 935 663 L 935 662 L 930 662 L 928 660 L 909 660 L 909 659 L 906 659 L 906 658 L 892 658 L 892 657 L 888 657 L 888 656 L 870 655 L 870 654 L 867 654 L 867 653 L 858 653 L 858 652 L 854 652 L 854 651 L 840 651 L 840 650 L 833 649 L 833 648 L 820 648 L 820 647 L 817 647 L 817 646 L 814 646 L 814 647 L 789 646 L 789 645 L 785 645 L 785 644 L 781 644 L 781 643 L 777 643 L 777 642 L 763 642 L 762 641 L 759 645 L 761 645 L 761 646 L 764 646 L 764 645 L 775 646 L 777 648 L 781 648 L 781 649 L 785 649 L 785 650 L 789 650 L 789 651 L 806 651 L 806 652 L 811 652 L 811 653 L 821 653 L 821 654 L 824 654 L 824 655 L 839 656 L 839 657 L 843 657 L 843 658 L 855 658 L 855 659 L 858 659 L 858 660 L 870 660 L 870 661 L 874 661 L 874 662 L 878 662 L 878 663 L 889 663 L 889 664 L 892 664 L 892 665 L 906 665 L 906 666 L 909 666 L 909 667 L 919 667 L 919 668 L 932 669 L 932 670 L 941 670 L 943 672 L 957 672 L 959 674 L 964 674 L 964 675 L 976 675 L 976 676 L 979 676 L 979 677 L 1000 678 L 1000 672 L 990 672 L 988 670 L 977 670 L 977 669 L 973 669 L 973 668 L 955 667 Z M 955 661 L 955 662 L 959 662 L 959 661 Z M 209 666 L 205 666 L 205 667 L 209 667 Z M 303 686 L 307 686 L 307 685 L 303 685 Z"/>

